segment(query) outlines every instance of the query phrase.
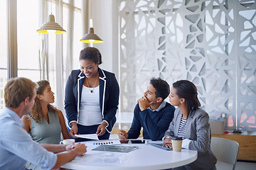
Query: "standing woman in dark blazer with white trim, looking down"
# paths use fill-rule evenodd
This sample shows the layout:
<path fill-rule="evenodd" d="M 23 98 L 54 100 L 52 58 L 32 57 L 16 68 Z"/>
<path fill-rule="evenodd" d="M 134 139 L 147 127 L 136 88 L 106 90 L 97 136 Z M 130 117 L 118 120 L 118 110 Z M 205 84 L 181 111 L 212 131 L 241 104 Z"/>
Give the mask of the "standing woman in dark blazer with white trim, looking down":
<path fill-rule="evenodd" d="M 73 70 L 65 87 L 65 112 L 70 137 L 97 134 L 108 140 L 116 122 L 119 85 L 114 74 L 100 69 L 102 56 L 95 47 L 81 50 L 80 69 Z"/>

